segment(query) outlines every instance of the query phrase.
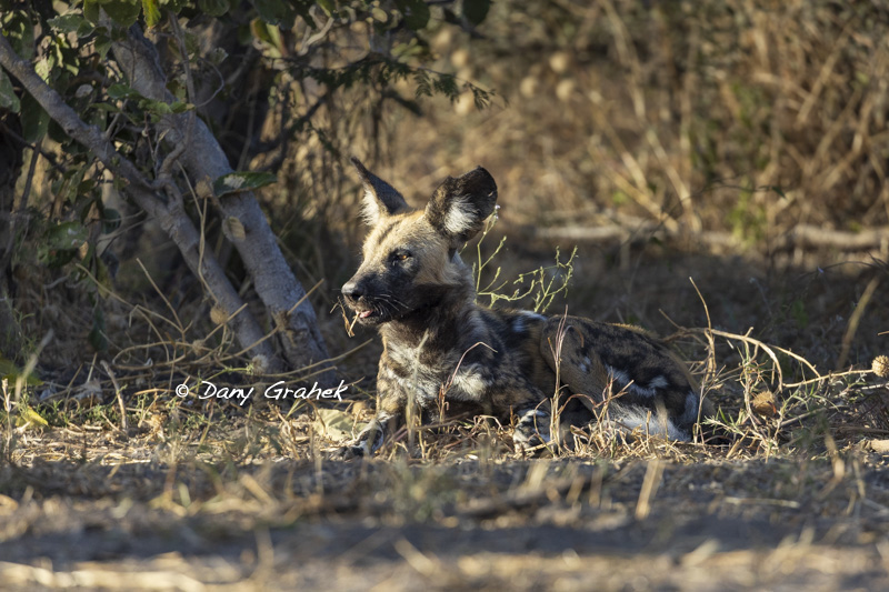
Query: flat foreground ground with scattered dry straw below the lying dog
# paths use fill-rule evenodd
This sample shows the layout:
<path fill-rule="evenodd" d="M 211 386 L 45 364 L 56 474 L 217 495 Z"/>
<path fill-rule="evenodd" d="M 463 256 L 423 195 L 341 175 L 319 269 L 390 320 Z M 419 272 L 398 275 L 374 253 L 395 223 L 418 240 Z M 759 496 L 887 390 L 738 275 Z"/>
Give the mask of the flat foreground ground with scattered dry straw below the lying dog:
<path fill-rule="evenodd" d="M 230 438 L 249 450 L 274 430 Z M 651 441 L 649 459 L 220 462 L 189 445 L 171 466 L 151 437 L 54 432 L 23 449 L 68 441 L 82 462 L 0 470 L 3 588 L 889 585 L 889 473 L 872 452 L 726 461 Z"/>

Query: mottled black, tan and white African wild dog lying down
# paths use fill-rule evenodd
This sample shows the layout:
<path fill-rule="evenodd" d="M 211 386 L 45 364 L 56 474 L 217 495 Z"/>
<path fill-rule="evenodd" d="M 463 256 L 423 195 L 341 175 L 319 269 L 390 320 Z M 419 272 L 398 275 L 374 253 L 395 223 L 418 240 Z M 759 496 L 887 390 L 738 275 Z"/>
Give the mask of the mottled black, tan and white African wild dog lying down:
<path fill-rule="evenodd" d="M 358 322 L 379 328 L 383 353 L 377 415 L 343 455 L 378 450 L 387 429 L 403 419 L 409 394 L 427 413 L 444 393 L 451 413 L 515 414 L 517 446 L 548 441 L 557 367 L 561 392 L 581 395 L 587 423 L 605 410 L 600 421 L 615 427 L 690 439 L 701 415 L 698 389 L 660 341 L 630 327 L 476 303 L 458 249 L 495 210 L 497 184 L 488 171 L 448 177 L 426 209 L 414 210 L 358 159 L 352 163 L 370 232 L 342 295 Z M 619 397 L 602 405 L 612 384 Z"/>

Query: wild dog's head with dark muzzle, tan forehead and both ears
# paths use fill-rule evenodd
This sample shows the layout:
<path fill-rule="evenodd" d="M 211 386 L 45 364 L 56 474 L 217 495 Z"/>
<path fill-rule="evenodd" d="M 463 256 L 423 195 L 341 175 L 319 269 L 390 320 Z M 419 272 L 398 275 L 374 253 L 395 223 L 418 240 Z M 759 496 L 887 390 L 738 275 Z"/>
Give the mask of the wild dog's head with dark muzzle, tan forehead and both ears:
<path fill-rule="evenodd" d="M 497 202 L 497 183 L 478 167 L 448 177 L 423 210 L 408 205 L 392 185 L 352 158 L 364 187 L 363 218 L 370 227 L 363 261 L 342 287 L 362 324 L 380 324 L 438 305 L 465 289 L 466 267 L 457 250 L 485 228 Z"/>

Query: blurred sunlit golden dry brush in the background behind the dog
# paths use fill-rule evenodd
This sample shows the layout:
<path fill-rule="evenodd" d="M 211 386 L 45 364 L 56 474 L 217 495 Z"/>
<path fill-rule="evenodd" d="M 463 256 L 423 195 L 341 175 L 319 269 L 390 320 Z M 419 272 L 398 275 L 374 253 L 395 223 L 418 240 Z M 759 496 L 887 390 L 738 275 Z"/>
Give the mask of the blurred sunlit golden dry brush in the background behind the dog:
<path fill-rule="evenodd" d="M 431 36 L 432 66 L 495 89 L 493 107 L 478 111 L 467 91 L 455 106 L 427 103 L 417 119 L 380 101 L 369 108 L 386 118 L 377 137 L 348 109 L 321 116 L 332 137 L 351 122 L 347 151 L 378 157 L 409 200 L 481 163 L 498 180 L 508 224 L 547 227 L 563 242 L 577 240 L 569 233 L 609 243 L 656 235 L 796 264 L 798 248 L 812 244 L 885 259 L 885 10 L 863 1 L 497 2 L 483 39 L 449 28 Z M 334 227 L 353 218 L 339 175 L 301 179 L 331 198 L 312 212 L 331 208 Z"/>

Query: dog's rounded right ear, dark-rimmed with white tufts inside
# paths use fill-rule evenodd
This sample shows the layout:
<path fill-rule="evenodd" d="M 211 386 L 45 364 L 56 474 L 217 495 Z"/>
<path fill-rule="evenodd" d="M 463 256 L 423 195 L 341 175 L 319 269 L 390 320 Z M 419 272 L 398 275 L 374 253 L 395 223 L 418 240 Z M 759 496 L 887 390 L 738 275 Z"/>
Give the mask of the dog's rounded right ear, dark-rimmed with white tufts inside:
<path fill-rule="evenodd" d="M 444 179 L 426 207 L 426 218 L 451 247 L 459 247 L 485 228 L 485 220 L 496 204 L 497 183 L 491 173 L 477 167 L 460 177 Z"/>

